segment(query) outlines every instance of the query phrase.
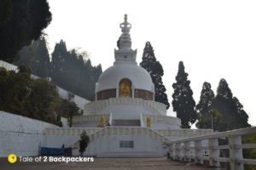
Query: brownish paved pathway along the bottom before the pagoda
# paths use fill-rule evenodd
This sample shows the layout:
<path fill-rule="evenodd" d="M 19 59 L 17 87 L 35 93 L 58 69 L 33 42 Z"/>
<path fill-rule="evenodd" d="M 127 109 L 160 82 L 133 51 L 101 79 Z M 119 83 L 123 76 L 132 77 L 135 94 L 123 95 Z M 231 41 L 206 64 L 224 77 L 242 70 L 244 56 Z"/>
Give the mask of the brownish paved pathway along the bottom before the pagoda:
<path fill-rule="evenodd" d="M 94 162 L 84 163 L 20 163 L 9 164 L 0 161 L 1 170 L 203 170 L 214 169 L 189 165 L 166 158 L 95 158 Z"/>

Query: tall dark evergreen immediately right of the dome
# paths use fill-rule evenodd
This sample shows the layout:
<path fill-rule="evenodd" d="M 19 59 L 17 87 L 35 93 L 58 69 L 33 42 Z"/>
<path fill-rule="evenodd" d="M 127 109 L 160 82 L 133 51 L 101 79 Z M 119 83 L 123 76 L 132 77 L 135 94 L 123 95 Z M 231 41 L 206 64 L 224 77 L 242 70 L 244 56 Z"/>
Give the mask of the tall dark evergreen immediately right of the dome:
<path fill-rule="evenodd" d="M 151 46 L 150 42 L 146 42 L 144 51 L 143 51 L 143 61 L 140 65 L 148 71 L 152 81 L 154 82 L 154 99 L 160 103 L 166 105 L 166 108 L 169 109 L 170 104 L 166 94 L 166 87 L 162 82 L 162 77 L 164 76 L 164 70 L 159 61 L 156 60 L 154 56 L 154 49 Z"/>

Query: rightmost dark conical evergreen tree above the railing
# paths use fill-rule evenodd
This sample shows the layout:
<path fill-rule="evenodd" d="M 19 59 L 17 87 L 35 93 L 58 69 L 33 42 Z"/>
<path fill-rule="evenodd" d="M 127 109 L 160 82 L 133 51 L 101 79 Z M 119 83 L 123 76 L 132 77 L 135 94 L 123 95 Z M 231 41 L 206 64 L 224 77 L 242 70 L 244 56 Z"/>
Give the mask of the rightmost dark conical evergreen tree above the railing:
<path fill-rule="evenodd" d="M 227 131 L 231 129 L 250 127 L 247 123 L 247 113 L 243 106 L 230 90 L 229 84 L 225 79 L 221 79 L 218 84 L 217 95 L 212 102 L 212 109 L 217 109 L 222 113 L 222 120 L 218 122 L 218 131 Z"/>

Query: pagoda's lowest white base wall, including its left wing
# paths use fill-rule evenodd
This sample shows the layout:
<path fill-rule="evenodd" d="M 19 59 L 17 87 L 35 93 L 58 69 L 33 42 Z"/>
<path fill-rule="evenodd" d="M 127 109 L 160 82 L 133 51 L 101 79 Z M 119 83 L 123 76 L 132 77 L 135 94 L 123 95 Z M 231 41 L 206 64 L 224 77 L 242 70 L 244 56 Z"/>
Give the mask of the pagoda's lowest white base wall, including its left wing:
<path fill-rule="evenodd" d="M 90 128 L 71 128 L 69 131 L 56 132 L 49 129 L 46 132 L 46 147 L 73 147 L 73 156 L 79 156 L 79 134 L 85 130 L 90 134 L 90 144 L 85 152 L 85 156 L 99 157 L 155 157 L 164 156 L 166 150 L 162 148 L 162 139 L 158 133 L 154 133 L 145 127 L 109 127 L 102 128 L 98 133 L 90 133 Z M 93 130 L 91 128 L 91 130 Z M 79 133 L 80 132 L 80 133 Z M 120 148 L 121 140 L 134 142 L 134 148 Z"/>

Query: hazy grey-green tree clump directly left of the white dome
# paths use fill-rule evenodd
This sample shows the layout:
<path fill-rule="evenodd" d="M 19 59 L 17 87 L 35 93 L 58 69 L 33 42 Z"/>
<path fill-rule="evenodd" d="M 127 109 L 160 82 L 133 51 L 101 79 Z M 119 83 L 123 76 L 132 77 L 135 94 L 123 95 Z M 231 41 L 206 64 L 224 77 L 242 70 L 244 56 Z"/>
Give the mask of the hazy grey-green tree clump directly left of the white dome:
<path fill-rule="evenodd" d="M 51 62 L 51 77 L 61 88 L 85 99 L 95 99 L 95 84 L 102 73 L 102 66 L 92 66 L 88 55 L 72 49 L 67 51 L 61 40 L 55 45 Z"/>

